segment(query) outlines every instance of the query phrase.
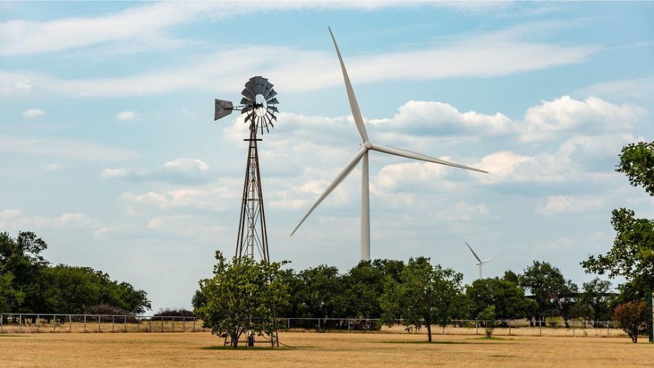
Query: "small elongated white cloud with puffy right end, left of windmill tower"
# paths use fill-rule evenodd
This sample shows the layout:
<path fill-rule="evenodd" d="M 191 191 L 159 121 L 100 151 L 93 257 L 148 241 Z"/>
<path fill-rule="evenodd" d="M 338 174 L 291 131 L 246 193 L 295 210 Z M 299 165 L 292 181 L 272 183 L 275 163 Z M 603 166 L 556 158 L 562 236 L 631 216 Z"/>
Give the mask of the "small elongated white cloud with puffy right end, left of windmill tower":
<path fill-rule="evenodd" d="M 180 157 L 153 168 L 105 168 L 100 176 L 128 180 L 153 180 L 162 182 L 198 182 L 209 171 L 201 159 Z"/>

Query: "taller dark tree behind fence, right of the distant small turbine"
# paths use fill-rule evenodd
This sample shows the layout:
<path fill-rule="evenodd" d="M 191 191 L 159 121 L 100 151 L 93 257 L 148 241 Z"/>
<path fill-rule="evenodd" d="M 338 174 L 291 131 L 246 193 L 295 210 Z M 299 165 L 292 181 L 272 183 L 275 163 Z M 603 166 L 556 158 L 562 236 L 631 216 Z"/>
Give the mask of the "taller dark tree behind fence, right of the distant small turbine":
<path fill-rule="evenodd" d="M 576 284 L 566 280 L 557 267 L 539 261 L 527 267 L 519 280 L 537 303 L 537 320 L 542 322 L 546 316 L 562 316 L 567 327 L 577 295 Z"/>

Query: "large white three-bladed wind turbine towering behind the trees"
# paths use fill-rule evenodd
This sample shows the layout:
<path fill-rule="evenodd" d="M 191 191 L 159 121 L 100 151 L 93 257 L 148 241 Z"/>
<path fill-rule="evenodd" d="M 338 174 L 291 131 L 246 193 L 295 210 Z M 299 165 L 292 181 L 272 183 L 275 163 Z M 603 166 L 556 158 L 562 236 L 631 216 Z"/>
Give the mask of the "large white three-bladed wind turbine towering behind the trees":
<path fill-rule="evenodd" d="M 340 173 L 338 173 L 338 176 L 336 176 L 336 179 L 334 179 L 329 186 L 327 186 L 327 189 L 325 189 L 325 192 L 318 197 L 318 200 L 316 200 L 316 203 L 314 203 L 313 206 L 311 206 L 311 209 L 307 212 L 305 217 L 302 217 L 302 220 L 300 220 L 300 223 L 296 228 L 293 230 L 291 233 L 291 236 L 298 230 L 300 225 L 302 225 L 305 220 L 307 220 L 307 217 L 311 215 L 312 212 L 318 207 L 318 204 L 323 202 L 327 195 L 334 191 L 336 186 L 340 184 L 340 182 L 343 182 L 345 177 L 349 175 L 349 173 L 352 172 L 354 169 L 354 166 L 356 166 L 359 162 L 362 162 L 361 165 L 361 260 L 370 260 L 370 190 L 369 190 L 369 180 L 368 180 L 368 151 L 377 151 L 381 153 L 389 153 L 390 155 L 396 155 L 400 157 L 407 157 L 410 159 L 419 159 L 421 161 L 427 161 L 427 162 L 434 162 L 436 164 L 441 164 L 441 165 L 447 165 L 447 166 L 454 166 L 458 168 L 465 168 L 467 170 L 472 170 L 472 171 L 479 171 L 480 173 L 488 173 L 483 170 L 479 170 L 477 168 L 471 168 L 468 166 L 463 166 L 459 164 L 454 164 L 452 162 L 447 162 L 442 159 L 437 159 L 434 157 L 430 157 L 427 155 L 423 155 L 421 153 L 416 153 L 413 151 L 408 151 L 403 148 L 395 148 L 395 147 L 389 147 L 389 146 L 381 146 L 379 144 L 372 144 L 370 142 L 370 139 L 368 139 L 368 133 L 365 130 L 365 125 L 363 124 L 363 117 L 361 116 L 361 111 L 359 110 L 359 106 L 356 102 L 356 97 L 354 97 L 354 90 L 352 90 L 352 84 L 349 81 L 349 77 L 347 76 L 347 71 L 345 70 L 345 64 L 343 63 L 343 57 L 340 56 L 340 50 L 338 50 L 338 45 L 336 44 L 336 38 L 334 38 L 334 33 L 331 32 L 331 28 L 329 28 L 329 34 L 331 35 L 331 40 L 334 41 L 334 48 L 336 48 L 336 55 L 338 55 L 338 61 L 340 61 L 340 69 L 343 70 L 343 81 L 345 81 L 345 90 L 347 91 L 347 99 L 349 99 L 349 106 L 352 108 L 352 117 L 354 117 L 354 124 L 356 124 L 356 129 L 359 132 L 359 135 L 361 136 L 361 139 L 363 140 L 363 144 L 361 145 L 361 148 L 359 148 L 359 151 L 352 157 L 351 160 L 345 165 L 345 168 L 343 168 Z"/>

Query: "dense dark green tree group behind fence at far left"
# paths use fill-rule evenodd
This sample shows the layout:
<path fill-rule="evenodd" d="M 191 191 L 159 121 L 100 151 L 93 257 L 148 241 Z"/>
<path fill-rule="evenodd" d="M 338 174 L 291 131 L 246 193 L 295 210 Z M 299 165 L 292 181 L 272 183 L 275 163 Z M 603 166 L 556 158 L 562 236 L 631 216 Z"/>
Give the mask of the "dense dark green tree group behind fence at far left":
<path fill-rule="evenodd" d="M 35 233 L 0 233 L 0 313 L 128 314 L 151 309 L 145 291 L 90 267 L 52 265 Z"/>

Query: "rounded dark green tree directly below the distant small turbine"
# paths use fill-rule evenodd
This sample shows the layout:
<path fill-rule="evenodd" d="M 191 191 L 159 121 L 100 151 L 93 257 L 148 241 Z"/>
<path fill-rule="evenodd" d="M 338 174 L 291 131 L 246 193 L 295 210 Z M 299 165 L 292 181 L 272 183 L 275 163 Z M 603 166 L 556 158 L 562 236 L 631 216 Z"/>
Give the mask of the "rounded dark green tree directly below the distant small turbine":
<path fill-rule="evenodd" d="M 465 294 L 472 301 L 472 315 L 477 316 L 487 307 L 494 307 L 494 318 L 514 320 L 525 318 L 531 303 L 525 291 L 516 284 L 500 278 L 474 280 L 465 288 Z"/>

